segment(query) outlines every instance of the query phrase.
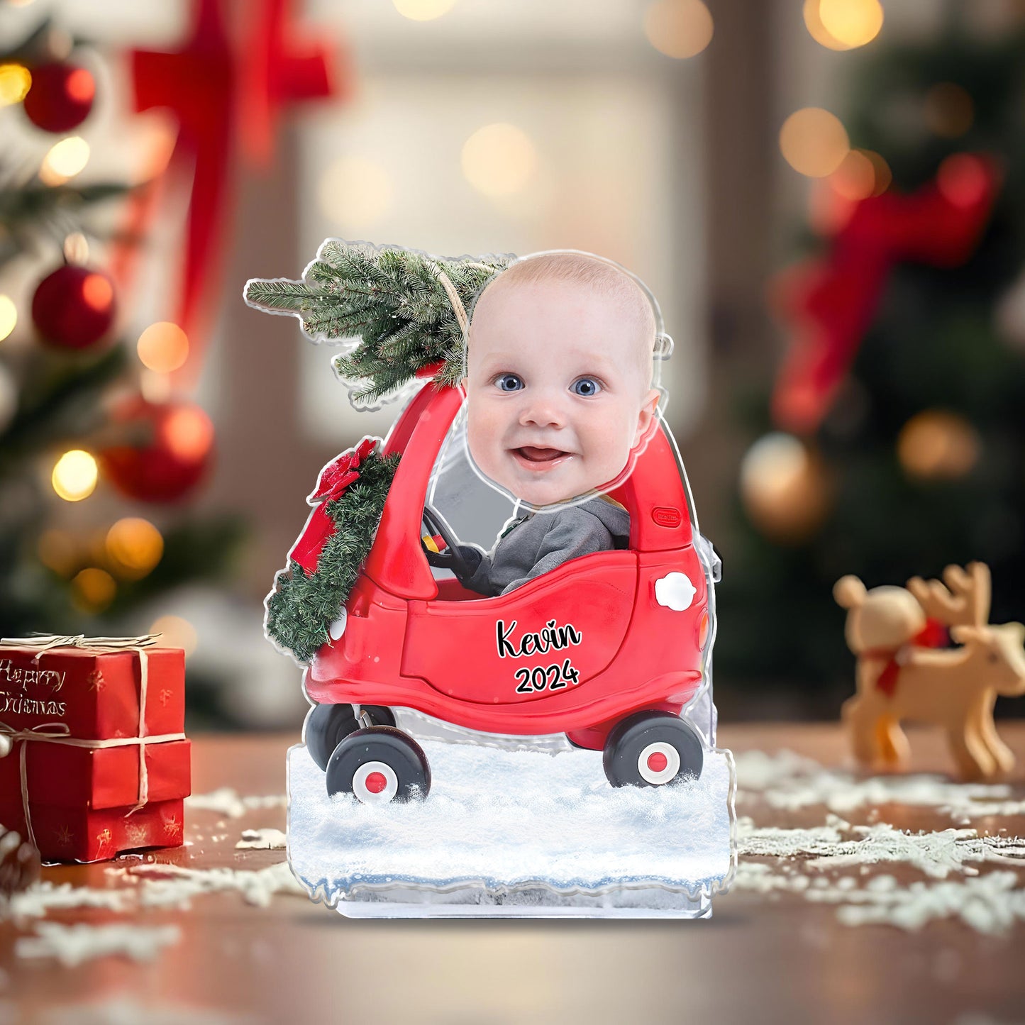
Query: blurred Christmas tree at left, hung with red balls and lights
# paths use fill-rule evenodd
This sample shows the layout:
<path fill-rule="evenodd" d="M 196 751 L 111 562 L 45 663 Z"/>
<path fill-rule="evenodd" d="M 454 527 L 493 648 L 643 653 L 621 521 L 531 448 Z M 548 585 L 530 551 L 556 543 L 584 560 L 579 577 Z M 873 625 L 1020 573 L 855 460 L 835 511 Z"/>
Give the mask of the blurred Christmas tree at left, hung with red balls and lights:
<path fill-rule="evenodd" d="M 133 190 L 76 183 L 90 153 L 69 133 L 92 111 L 96 67 L 49 23 L 0 55 L 4 637 L 110 632 L 166 588 L 223 573 L 240 538 L 235 521 L 166 507 L 195 493 L 213 427 L 173 395 L 180 329 L 152 325 L 130 347 L 115 338 L 124 276 L 102 257 L 113 264 L 141 240 L 102 227 Z"/>

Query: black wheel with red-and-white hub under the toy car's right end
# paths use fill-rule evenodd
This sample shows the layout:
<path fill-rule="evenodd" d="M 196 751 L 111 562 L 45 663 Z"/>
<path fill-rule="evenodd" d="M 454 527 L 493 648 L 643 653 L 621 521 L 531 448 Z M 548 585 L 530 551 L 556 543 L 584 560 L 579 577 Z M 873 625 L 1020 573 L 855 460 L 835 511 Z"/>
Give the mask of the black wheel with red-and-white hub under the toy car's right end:
<path fill-rule="evenodd" d="M 613 786 L 664 786 L 701 776 L 704 753 L 691 726 L 665 711 L 639 711 L 617 723 L 602 758 Z"/>

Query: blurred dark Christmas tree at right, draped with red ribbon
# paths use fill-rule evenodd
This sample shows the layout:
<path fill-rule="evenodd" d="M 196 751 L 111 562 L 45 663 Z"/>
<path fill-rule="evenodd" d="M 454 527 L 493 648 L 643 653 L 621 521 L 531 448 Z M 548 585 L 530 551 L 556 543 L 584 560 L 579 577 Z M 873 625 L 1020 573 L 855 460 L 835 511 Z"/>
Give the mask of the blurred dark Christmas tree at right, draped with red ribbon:
<path fill-rule="evenodd" d="M 934 39 L 860 58 L 814 256 L 776 289 L 784 366 L 749 404 L 716 666 L 799 687 L 806 714 L 852 690 L 845 573 L 901 584 L 983 560 L 992 621 L 1025 619 L 1025 31 L 982 38 L 947 9 Z M 795 150 L 835 131 L 823 113 L 794 116 L 784 155 L 788 128 Z"/>

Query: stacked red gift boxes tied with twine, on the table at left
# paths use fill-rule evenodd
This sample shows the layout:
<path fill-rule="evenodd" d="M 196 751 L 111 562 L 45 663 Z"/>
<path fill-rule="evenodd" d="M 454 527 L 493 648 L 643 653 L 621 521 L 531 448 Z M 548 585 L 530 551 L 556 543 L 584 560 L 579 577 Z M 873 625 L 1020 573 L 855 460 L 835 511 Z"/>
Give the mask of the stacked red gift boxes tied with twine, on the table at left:
<path fill-rule="evenodd" d="M 46 860 L 181 844 L 184 653 L 153 640 L 0 644 L 0 822 Z"/>

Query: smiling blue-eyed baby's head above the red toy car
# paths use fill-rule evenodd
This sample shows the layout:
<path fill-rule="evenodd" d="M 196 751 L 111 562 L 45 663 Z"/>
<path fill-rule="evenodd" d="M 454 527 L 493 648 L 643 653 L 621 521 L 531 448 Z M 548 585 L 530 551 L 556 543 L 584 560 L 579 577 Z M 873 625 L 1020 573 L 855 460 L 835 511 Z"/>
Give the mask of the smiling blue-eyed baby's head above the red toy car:
<path fill-rule="evenodd" d="M 652 425 L 656 319 L 641 286 L 583 253 L 497 275 L 474 305 L 467 442 L 491 483 L 543 509 L 600 492 Z"/>

